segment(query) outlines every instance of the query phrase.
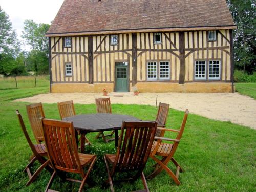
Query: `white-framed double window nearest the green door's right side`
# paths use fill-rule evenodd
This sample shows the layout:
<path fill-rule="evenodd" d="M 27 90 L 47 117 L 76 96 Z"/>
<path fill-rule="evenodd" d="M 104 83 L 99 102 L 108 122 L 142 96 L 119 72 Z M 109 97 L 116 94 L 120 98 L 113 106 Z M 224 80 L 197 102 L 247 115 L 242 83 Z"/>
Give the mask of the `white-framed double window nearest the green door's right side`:
<path fill-rule="evenodd" d="M 159 72 L 158 72 L 159 71 Z M 147 80 L 170 79 L 170 63 L 167 61 L 147 62 Z"/>

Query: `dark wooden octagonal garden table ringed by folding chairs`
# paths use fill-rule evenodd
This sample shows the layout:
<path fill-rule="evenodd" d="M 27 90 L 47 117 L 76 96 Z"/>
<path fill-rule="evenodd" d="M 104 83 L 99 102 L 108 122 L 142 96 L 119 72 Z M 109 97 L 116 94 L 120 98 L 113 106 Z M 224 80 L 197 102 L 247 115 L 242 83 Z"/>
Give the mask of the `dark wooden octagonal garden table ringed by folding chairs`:
<path fill-rule="evenodd" d="M 115 146 L 118 145 L 118 130 L 122 127 L 122 121 L 140 121 L 133 116 L 118 114 L 88 114 L 75 115 L 63 119 L 73 121 L 74 128 L 81 132 L 81 153 L 84 153 L 85 135 L 90 132 L 115 131 Z"/>

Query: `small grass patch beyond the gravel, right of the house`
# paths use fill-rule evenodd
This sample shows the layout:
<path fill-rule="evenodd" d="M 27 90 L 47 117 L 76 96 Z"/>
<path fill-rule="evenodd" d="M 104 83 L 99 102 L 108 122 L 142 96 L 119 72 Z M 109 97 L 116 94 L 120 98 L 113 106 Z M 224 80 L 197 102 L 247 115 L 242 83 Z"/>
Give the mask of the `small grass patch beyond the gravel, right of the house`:
<path fill-rule="evenodd" d="M 247 95 L 253 99 L 256 99 L 256 82 L 236 83 L 236 91 L 242 95 Z"/>

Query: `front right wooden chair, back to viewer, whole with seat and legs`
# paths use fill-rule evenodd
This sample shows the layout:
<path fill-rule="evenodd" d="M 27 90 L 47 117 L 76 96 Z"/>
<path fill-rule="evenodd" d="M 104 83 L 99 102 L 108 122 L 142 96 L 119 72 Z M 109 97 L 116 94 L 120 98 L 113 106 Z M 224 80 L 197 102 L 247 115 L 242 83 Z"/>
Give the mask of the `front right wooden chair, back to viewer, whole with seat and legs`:
<path fill-rule="evenodd" d="M 114 191 L 113 182 L 136 180 L 141 177 L 144 190 L 149 191 L 143 169 L 146 165 L 148 155 L 156 134 L 157 122 L 125 122 L 122 123 L 121 135 L 116 154 L 105 154 L 104 160 L 108 171 L 111 191 Z M 110 165 L 112 169 L 110 170 Z M 136 172 L 129 179 L 113 181 L 117 172 Z"/>

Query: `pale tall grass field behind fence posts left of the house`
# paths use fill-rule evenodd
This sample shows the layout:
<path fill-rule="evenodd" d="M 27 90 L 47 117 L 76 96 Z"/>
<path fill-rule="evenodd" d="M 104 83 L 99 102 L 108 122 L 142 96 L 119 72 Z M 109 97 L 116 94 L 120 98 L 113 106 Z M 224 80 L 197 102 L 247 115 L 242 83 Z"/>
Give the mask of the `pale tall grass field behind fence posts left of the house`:
<path fill-rule="evenodd" d="M 17 87 L 16 87 L 16 81 Z M 16 88 L 33 88 L 49 86 L 49 75 L 40 76 L 17 76 L 17 77 L 2 77 L 0 78 L 0 90 L 16 89 Z"/>

